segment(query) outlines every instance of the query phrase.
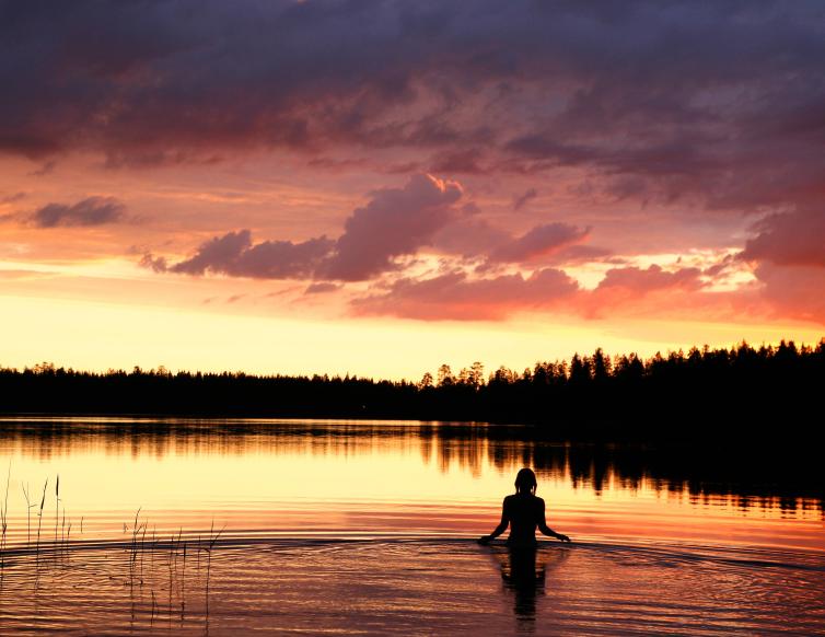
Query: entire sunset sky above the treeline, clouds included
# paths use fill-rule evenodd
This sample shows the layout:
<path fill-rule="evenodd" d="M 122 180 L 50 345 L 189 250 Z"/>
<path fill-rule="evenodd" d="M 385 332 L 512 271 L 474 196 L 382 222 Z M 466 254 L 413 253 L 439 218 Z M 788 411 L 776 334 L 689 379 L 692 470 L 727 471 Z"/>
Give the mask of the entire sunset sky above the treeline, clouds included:
<path fill-rule="evenodd" d="M 0 0 L 0 364 L 825 335 L 825 4 Z"/>

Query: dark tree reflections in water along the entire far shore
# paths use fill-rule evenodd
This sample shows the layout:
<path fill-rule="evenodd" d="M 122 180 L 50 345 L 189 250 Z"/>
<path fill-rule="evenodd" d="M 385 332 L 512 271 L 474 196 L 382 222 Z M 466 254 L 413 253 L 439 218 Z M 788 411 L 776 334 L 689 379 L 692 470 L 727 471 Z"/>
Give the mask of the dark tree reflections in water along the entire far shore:
<path fill-rule="evenodd" d="M 616 486 L 687 491 L 695 503 L 725 497 L 741 508 L 818 509 L 825 517 L 813 451 L 694 444 L 559 443 L 527 427 L 382 421 L 128 420 L 2 421 L 0 449 L 39 459 L 97 451 L 109 455 L 240 455 L 251 451 L 313 456 L 418 453 L 441 471 L 473 475 L 493 466 L 532 466 L 597 495 Z"/>

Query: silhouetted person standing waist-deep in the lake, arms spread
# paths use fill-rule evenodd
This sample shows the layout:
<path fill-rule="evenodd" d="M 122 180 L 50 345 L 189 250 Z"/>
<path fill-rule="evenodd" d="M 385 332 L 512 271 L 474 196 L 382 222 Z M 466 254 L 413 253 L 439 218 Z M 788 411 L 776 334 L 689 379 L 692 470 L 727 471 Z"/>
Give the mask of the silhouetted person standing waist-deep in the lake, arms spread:
<path fill-rule="evenodd" d="M 548 535 L 561 542 L 570 542 L 567 535 L 556 533 L 547 525 L 544 517 L 544 500 L 536 496 L 536 474 L 532 470 L 523 468 L 515 476 L 515 494 L 507 496 L 501 507 L 501 522 L 489 535 L 478 538 L 480 544 L 487 544 L 501 535 L 510 525 L 510 546 L 531 546 L 536 544 L 536 526 Z"/>

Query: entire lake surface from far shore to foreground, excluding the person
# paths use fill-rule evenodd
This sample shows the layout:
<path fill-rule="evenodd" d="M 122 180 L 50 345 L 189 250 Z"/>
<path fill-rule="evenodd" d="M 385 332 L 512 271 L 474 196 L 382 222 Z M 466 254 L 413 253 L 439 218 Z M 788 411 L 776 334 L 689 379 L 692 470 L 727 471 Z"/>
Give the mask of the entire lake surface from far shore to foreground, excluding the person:
<path fill-rule="evenodd" d="M 0 460 L 3 634 L 825 634 L 823 483 L 793 458 L 83 418 L 1 420 Z M 525 465 L 574 543 L 478 546 Z"/>

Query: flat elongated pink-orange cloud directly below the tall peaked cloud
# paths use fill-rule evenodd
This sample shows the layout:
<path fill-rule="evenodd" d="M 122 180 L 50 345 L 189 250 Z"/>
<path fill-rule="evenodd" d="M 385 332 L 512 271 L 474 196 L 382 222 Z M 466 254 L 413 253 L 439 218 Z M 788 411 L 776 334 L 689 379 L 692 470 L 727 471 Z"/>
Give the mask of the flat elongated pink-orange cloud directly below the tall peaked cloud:
<path fill-rule="evenodd" d="M 386 292 L 355 300 L 351 308 L 359 315 L 498 321 L 524 310 L 558 306 L 578 289 L 573 279 L 554 268 L 527 278 L 516 274 L 469 279 L 464 273 L 450 273 L 425 280 L 400 279 Z"/>

